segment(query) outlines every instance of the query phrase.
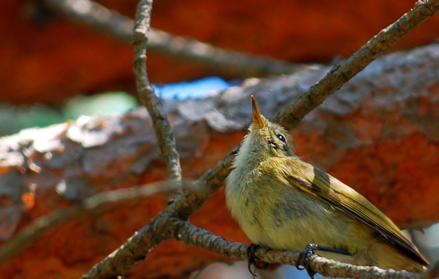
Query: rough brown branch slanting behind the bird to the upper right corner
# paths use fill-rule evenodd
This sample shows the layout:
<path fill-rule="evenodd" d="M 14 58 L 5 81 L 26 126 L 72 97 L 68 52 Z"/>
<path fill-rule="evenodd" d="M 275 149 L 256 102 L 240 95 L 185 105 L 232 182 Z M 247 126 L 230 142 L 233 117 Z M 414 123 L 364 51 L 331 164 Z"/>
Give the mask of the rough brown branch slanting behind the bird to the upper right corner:
<path fill-rule="evenodd" d="M 140 5 L 139 8 L 141 8 Z M 150 8 L 150 6 L 148 8 Z M 394 45 L 401 37 L 408 34 L 425 19 L 436 14 L 438 9 L 439 0 L 426 0 L 422 3 L 419 3 L 414 9 L 402 16 L 397 22 L 390 25 L 386 29 L 383 29 L 356 54 L 351 56 L 341 65 L 334 67 L 332 71 L 330 71 L 325 77 L 323 77 L 322 80 L 319 81 L 319 83 L 311 87 L 308 92 L 299 99 L 297 105 L 295 103 L 289 109 L 279 113 L 279 115 L 275 117 L 274 121 L 287 128 L 295 127 L 306 113 L 317 107 L 326 97 L 340 88 L 342 84 L 363 69 L 373 59 L 381 55 L 390 46 Z M 391 32 L 389 32 L 389 30 L 391 30 Z M 301 106 L 303 106 L 303 108 L 301 108 Z M 194 195 L 191 193 L 180 195 L 174 204 L 162 211 L 148 225 L 140 230 L 139 233 L 135 234 L 132 238 L 125 242 L 125 244 L 122 246 L 122 251 L 114 251 L 107 259 L 101 261 L 89 273 L 84 275 L 83 278 L 111 278 L 123 274 L 130 270 L 130 268 L 139 264 L 141 260 L 144 260 L 149 249 L 153 248 L 158 243 L 172 237 L 176 239 L 183 239 L 183 234 L 176 235 L 174 233 L 173 235 L 170 232 L 173 227 L 175 229 L 176 222 L 180 222 L 181 219 L 171 222 L 170 218 L 173 218 L 175 215 L 175 210 L 186 210 L 184 216 L 188 217 L 191 213 L 200 208 L 205 200 L 210 197 L 212 191 L 216 190 L 223 184 L 225 177 L 229 173 L 230 164 L 237 150 L 238 148 L 234 149 L 226 158 L 221 160 L 216 167 L 207 171 L 200 178 L 200 182 L 205 183 L 206 187 L 209 187 L 210 190 L 206 190 L 199 195 Z M 220 239 L 217 238 L 215 241 L 220 241 Z M 202 245 L 205 245 L 203 242 L 201 243 Z M 209 249 L 211 245 L 206 244 L 206 246 L 203 247 Z M 134 249 L 134 251 L 137 251 L 137 254 L 130 255 L 129 253 L 126 253 L 126 251 L 129 251 L 128 249 Z M 144 254 L 142 254 L 143 251 Z M 114 255 L 118 255 L 118 257 L 113 258 Z M 260 256 L 261 259 L 265 259 L 264 255 Z M 332 269 L 332 267 L 330 269 Z M 101 273 L 101 270 L 105 270 L 105 273 Z M 320 269 L 316 269 L 316 271 L 323 272 Z M 373 269 L 373 271 L 375 272 L 376 270 Z M 360 271 L 360 274 L 363 276 L 364 270 Z M 374 278 L 383 278 L 382 276 L 387 275 L 380 274 L 379 277 Z"/>

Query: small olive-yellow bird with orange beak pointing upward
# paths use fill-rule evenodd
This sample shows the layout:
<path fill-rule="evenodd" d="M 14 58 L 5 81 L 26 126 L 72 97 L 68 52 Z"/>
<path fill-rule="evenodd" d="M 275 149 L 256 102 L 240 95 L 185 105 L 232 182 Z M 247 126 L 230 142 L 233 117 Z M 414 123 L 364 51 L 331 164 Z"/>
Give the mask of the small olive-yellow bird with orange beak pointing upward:
<path fill-rule="evenodd" d="M 426 270 L 428 260 L 395 223 L 357 191 L 296 156 L 286 130 L 260 114 L 253 95 L 252 104 L 253 123 L 225 189 L 227 207 L 252 245 L 311 247 L 344 263 Z"/>

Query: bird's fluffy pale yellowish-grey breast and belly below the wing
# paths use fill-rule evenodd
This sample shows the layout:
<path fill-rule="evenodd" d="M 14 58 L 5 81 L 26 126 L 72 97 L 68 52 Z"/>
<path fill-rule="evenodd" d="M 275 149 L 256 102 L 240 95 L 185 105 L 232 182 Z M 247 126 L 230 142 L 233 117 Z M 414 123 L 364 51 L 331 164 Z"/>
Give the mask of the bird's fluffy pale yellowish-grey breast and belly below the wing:
<path fill-rule="evenodd" d="M 351 218 L 270 172 L 254 170 L 248 177 L 238 177 L 232 171 L 226 202 L 247 237 L 263 246 L 285 250 L 301 250 L 309 243 L 334 246 L 351 235 L 347 232 Z"/>

